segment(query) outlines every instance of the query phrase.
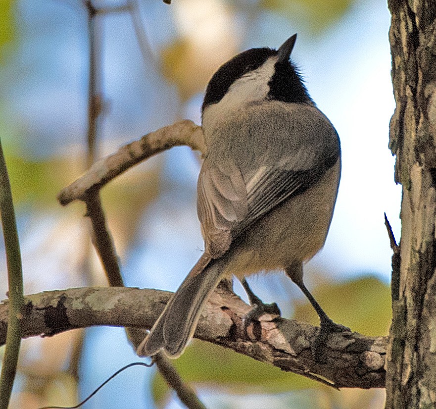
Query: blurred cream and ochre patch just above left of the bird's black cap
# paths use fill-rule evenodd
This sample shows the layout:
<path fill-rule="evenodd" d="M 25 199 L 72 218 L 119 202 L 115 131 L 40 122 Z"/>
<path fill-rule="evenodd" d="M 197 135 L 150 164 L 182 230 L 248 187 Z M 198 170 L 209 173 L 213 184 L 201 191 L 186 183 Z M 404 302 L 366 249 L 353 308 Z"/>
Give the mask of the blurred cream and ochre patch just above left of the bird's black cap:
<path fill-rule="evenodd" d="M 182 0 L 171 10 L 177 36 L 160 51 L 161 71 L 186 102 L 203 92 L 217 67 L 239 51 L 238 5 L 223 0 Z"/>

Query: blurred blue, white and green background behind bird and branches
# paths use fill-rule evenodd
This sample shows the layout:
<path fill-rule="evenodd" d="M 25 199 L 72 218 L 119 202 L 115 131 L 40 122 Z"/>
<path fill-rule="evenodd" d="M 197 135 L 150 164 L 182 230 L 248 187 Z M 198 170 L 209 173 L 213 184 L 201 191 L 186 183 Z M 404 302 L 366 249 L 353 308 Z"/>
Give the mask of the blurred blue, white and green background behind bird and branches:
<path fill-rule="evenodd" d="M 249 48 L 278 48 L 298 33 L 292 59 L 342 146 L 332 227 L 323 251 L 306 265 L 306 284 L 336 322 L 386 335 L 391 251 L 383 213 L 399 240 L 401 197 L 388 150 L 394 102 L 386 0 L 94 0 L 103 12 L 93 19 L 92 42 L 85 3 L 0 1 L 0 136 L 25 293 L 106 285 L 84 205 L 61 208 L 55 197 L 90 160 L 176 120 L 199 124 L 203 90 L 220 64 Z M 87 138 L 91 43 L 101 108 L 94 142 Z M 103 189 L 126 285 L 174 291 L 201 255 L 199 167 L 190 149 L 173 148 Z M 4 295 L 3 251 L 0 258 Z M 278 302 L 283 316 L 317 324 L 315 312 L 282 273 L 249 282 L 264 302 Z M 235 289 L 241 292 L 239 284 Z M 75 405 L 136 359 L 122 328 L 24 340 L 11 407 Z M 384 404 L 382 390 L 339 392 L 202 342 L 193 342 L 176 364 L 209 408 Z M 154 407 L 181 406 L 155 369 L 143 367 L 123 372 L 84 406 Z"/>

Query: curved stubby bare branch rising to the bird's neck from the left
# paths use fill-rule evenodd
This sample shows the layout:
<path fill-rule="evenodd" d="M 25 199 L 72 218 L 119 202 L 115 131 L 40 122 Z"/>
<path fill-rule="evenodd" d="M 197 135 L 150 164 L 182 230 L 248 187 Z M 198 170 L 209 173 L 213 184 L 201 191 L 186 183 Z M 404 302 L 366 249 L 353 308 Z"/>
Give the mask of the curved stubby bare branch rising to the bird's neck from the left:
<path fill-rule="evenodd" d="M 113 178 L 142 160 L 182 145 L 204 155 L 206 146 L 201 127 L 192 121 L 184 120 L 150 132 L 139 141 L 125 145 L 116 153 L 98 160 L 79 179 L 62 189 L 57 199 L 63 206 L 77 199 L 84 200 L 88 192 L 101 189 Z"/>

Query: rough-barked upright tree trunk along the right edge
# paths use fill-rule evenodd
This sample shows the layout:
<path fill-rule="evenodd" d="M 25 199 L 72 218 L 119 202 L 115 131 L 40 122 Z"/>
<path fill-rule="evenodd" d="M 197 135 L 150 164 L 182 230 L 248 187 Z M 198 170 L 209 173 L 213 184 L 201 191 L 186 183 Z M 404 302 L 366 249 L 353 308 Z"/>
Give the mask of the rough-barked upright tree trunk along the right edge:
<path fill-rule="evenodd" d="M 402 185 L 386 408 L 436 407 L 436 1 L 388 0 L 396 102 L 389 148 Z"/>

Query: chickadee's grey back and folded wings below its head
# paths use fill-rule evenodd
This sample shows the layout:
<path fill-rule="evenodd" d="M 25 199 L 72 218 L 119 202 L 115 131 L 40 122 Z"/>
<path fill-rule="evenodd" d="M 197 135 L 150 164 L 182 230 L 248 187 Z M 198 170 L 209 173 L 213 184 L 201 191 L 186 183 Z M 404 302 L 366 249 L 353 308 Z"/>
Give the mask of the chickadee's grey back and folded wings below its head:
<path fill-rule="evenodd" d="M 282 118 L 279 112 L 267 130 L 261 115 L 220 128 L 234 137 L 214 145 L 198 179 L 198 217 L 212 257 L 224 254 L 252 223 L 313 186 L 337 162 L 336 130 L 320 111 L 310 109 L 315 117 L 293 112 L 290 118 L 285 112 Z"/>

